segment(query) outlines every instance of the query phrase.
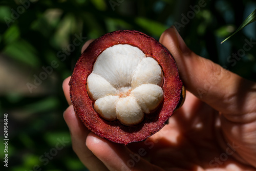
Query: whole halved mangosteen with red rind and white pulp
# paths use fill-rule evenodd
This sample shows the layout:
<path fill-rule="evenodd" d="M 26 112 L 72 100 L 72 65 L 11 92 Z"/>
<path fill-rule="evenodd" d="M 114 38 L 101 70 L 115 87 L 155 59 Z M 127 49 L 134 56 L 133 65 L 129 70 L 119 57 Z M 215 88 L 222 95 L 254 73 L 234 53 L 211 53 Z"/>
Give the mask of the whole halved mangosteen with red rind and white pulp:
<path fill-rule="evenodd" d="M 69 84 L 84 125 L 122 144 L 158 132 L 185 97 L 173 56 L 156 39 L 135 30 L 95 39 L 77 61 Z"/>

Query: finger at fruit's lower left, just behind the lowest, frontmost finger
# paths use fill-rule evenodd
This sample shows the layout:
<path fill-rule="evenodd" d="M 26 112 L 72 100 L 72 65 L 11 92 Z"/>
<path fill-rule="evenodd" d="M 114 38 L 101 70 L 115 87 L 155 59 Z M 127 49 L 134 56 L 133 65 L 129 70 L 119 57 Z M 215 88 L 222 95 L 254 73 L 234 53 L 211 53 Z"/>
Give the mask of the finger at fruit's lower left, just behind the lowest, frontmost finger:
<path fill-rule="evenodd" d="M 63 113 L 63 117 L 70 130 L 73 150 L 81 162 L 90 170 L 108 170 L 86 146 L 87 135 L 90 131 L 75 114 L 73 105 L 70 105 Z"/>

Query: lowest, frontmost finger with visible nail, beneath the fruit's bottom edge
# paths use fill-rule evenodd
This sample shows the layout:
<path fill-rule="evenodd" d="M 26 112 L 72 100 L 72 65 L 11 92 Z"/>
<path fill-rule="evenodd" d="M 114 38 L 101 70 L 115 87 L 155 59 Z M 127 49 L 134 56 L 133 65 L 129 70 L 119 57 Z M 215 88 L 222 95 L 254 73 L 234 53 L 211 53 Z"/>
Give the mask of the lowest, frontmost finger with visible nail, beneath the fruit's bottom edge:
<path fill-rule="evenodd" d="M 138 153 L 132 153 L 126 146 L 110 142 L 93 133 L 88 135 L 86 144 L 109 170 L 162 170 L 142 158 L 146 153 L 142 148 Z"/>

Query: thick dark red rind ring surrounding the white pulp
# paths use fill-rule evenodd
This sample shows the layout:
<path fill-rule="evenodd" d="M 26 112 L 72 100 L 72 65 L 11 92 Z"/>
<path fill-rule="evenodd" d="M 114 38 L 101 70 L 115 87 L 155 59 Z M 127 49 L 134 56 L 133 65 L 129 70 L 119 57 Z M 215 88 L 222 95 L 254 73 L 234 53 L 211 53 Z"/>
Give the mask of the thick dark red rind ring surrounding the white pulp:
<path fill-rule="evenodd" d="M 94 102 L 87 92 L 87 77 L 97 57 L 106 48 L 117 44 L 138 47 L 146 56 L 158 61 L 164 75 L 163 102 L 154 113 L 146 114 L 144 120 L 134 126 L 125 126 L 118 120 L 102 119 L 95 112 Z M 122 144 L 142 141 L 157 133 L 184 99 L 183 83 L 173 56 L 156 39 L 134 30 L 115 31 L 94 40 L 77 61 L 69 84 L 74 110 L 83 124 L 100 137 Z"/>

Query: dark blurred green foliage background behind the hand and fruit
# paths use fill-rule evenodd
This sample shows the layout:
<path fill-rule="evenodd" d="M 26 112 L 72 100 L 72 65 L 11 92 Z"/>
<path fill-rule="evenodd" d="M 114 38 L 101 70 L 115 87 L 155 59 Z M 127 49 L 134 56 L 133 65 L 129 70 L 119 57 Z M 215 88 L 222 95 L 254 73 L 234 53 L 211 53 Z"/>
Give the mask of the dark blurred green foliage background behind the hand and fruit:
<path fill-rule="evenodd" d="M 113 3 L 114 2 L 114 3 Z M 134 29 L 159 39 L 173 24 L 182 24 L 182 14 L 204 2 L 195 17 L 178 30 L 188 47 L 199 55 L 256 80 L 256 25 L 252 23 L 229 40 L 256 8 L 255 1 L 167 1 L 167 0 L 59 0 L 0 1 L 0 127 L 8 114 L 7 170 L 86 170 L 72 151 L 68 127 L 62 113 L 68 107 L 62 81 L 72 74 L 83 43 L 105 33 Z M 112 6 L 111 6 L 112 4 Z M 16 14 L 15 14 L 16 13 Z M 184 19 L 184 18 L 183 18 Z M 71 51 L 77 35 L 87 37 Z M 241 53 L 245 39 L 254 42 Z M 45 80 L 29 91 L 43 67 L 57 66 Z M 47 162 L 59 140 L 68 143 Z M 0 154 L 3 159 L 4 146 Z M 2 161 L 2 160 L 1 160 Z M 2 162 L 3 164 L 3 162 Z"/>

